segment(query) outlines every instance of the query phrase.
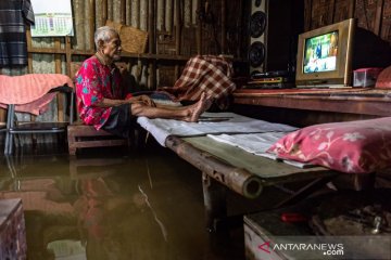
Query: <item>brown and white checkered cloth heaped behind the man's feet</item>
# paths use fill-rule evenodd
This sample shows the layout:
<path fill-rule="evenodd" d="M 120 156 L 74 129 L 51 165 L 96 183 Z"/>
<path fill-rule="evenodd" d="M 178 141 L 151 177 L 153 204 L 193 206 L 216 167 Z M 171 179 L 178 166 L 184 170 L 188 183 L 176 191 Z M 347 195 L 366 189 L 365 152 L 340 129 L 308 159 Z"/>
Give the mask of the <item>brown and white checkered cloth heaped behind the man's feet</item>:
<path fill-rule="evenodd" d="M 163 88 L 177 101 L 197 101 L 201 93 L 215 99 L 220 109 L 228 107 L 228 95 L 236 89 L 230 80 L 232 66 L 224 57 L 197 55 L 190 58 L 173 88 Z"/>

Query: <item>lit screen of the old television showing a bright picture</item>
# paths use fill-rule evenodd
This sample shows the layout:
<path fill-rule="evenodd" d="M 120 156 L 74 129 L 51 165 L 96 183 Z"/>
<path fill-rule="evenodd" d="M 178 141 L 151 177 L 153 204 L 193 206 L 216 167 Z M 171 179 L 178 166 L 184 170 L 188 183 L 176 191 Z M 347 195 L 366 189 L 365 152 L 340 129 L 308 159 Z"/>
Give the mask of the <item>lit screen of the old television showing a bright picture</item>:
<path fill-rule="evenodd" d="M 338 30 L 305 39 L 305 74 L 336 70 Z"/>

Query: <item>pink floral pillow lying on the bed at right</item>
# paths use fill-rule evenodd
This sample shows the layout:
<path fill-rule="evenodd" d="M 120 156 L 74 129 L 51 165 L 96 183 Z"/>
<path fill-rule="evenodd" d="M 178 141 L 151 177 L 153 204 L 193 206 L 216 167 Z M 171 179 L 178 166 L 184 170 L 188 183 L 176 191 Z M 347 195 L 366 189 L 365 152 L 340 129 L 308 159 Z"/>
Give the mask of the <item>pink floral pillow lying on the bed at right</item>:
<path fill-rule="evenodd" d="M 342 172 L 373 172 L 391 166 L 391 117 L 306 127 L 268 152 Z"/>

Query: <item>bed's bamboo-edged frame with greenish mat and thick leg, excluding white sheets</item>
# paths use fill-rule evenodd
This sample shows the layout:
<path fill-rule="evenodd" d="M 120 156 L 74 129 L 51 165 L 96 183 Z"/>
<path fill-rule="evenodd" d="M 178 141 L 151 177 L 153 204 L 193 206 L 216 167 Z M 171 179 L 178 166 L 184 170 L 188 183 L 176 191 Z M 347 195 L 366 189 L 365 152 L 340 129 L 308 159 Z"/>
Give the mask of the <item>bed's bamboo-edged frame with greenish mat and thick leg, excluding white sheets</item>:
<path fill-rule="evenodd" d="M 241 148 L 211 141 L 207 136 L 168 136 L 166 146 L 202 172 L 205 221 L 210 231 L 217 231 L 230 221 L 227 216 L 227 188 L 254 199 L 262 196 L 267 186 L 304 183 L 287 199 L 275 205 L 278 208 L 307 197 L 338 176 L 337 171 L 324 167 L 301 169 L 252 155 Z M 239 219 L 241 221 L 241 216 Z"/>

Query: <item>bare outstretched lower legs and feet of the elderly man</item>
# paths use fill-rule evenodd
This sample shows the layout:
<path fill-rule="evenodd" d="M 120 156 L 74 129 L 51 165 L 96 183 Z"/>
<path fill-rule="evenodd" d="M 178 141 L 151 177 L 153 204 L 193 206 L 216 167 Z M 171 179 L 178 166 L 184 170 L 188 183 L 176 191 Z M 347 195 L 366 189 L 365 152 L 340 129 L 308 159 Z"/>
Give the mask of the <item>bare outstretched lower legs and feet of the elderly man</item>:
<path fill-rule="evenodd" d="M 211 106 L 211 102 L 206 100 L 205 93 L 202 93 L 201 99 L 193 105 L 164 108 L 164 107 L 151 107 L 144 104 L 135 103 L 131 104 L 130 109 L 134 116 L 144 116 L 148 118 L 165 118 L 177 119 L 184 121 L 198 121 L 200 115 L 204 113 Z"/>

